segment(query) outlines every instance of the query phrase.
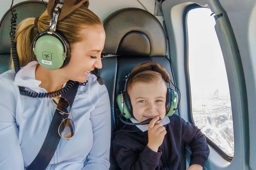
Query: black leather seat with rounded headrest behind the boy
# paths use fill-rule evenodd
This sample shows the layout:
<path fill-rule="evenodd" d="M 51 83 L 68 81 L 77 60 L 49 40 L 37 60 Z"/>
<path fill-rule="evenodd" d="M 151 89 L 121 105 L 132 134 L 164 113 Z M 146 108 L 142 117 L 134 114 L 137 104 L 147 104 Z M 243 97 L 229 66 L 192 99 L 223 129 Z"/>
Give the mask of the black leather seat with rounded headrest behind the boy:
<path fill-rule="evenodd" d="M 102 59 L 103 68 L 99 70 L 99 75 L 108 88 L 114 133 L 123 126 L 118 120 L 120 111 L 116 97 L 124 89 L 126 76 L 133 67 L 145 61 L 156 61 L 165 67 L 172 81 L 173 74 L 166 57 L 164 29 L 151 13 L 138 8 L 120 9 L 105 19 L 104 29 L 106 41 L 103 53 L 106 57 Z M 120 169 L 114 159 L 112 147 L 110 164 L 110 170 Z"/>

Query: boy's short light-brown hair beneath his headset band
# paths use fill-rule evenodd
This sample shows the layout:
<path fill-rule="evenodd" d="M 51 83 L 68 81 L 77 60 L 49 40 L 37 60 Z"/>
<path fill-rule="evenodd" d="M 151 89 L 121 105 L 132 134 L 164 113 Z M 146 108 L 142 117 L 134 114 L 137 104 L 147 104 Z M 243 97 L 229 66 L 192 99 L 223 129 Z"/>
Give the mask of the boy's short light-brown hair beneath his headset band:
<path fill-rule="evenodd" d="M 127 82 L 127 90 L 130 90 L 132 86 L 137 83 L 152 83 L 152 82 L 159 82 L 163 79 L 162 74 L 153 71 L 153 70 L 144 70 L 141 72 L 138 72 L 137 74 L 132 75 L 128 82 Z"/>

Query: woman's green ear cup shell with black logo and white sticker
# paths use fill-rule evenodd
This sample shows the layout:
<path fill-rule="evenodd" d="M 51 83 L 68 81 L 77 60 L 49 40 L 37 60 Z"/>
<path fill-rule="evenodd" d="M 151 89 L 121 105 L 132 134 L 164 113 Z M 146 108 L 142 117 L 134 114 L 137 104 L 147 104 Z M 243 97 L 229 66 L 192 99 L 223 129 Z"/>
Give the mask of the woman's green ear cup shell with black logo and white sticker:
<path fill-rule="evenodd" d="M 39 64 L 49 70 L 61 68 L 65 60 L 63 44 L 51 35 L 38 38 L 35 43 L 35 55 Z"/>

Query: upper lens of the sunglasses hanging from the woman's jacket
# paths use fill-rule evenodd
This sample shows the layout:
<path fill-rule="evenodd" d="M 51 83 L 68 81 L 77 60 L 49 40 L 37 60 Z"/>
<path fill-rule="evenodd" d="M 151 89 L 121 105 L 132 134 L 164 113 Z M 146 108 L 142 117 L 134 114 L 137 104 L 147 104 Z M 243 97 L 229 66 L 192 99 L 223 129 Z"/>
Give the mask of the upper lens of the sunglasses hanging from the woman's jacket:
<path fill-rule="evenodd" d="M 64 97 L 55 97 L 52 99 L 51 103 L 53 106 L 63 113 L 70 113 L 70 105 Z"/>

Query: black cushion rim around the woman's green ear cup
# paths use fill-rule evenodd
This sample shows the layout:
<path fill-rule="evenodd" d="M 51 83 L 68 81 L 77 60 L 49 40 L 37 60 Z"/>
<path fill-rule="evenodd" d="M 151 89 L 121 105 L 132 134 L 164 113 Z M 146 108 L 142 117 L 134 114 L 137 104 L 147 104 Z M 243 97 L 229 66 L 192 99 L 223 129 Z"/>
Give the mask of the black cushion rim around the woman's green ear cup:
<path fill-rule="evenodd" d="M 65 66 L 67 66 L 67 64 L 69 63 L 70 61 L 70 45 L 69 45 L 69 42 L 68 42 L 68 39 L 65 37 L 65 35 L 59 31 L 59 30 L 56 30 L 55 32 L 52 32 L 51 34 L 48 33 L 49 30 L 46 30 L 44 32 L 41 32 L 39 33 L 36 37 L 35 37 L 35 40 L 34 41 L 37 41 L 38 38 L 44 36 L 44 35 L 50 35 L 50 36 L 54 36 L 56 38 L 58 38 L 58 40 L 60 40 L 61 44 L 63 45 L 64 49 L 65 49 L 65 46 L 66 46 L 66 59 L 64 60 L 62 66 L 60 67 L 63 68 Z"/>

